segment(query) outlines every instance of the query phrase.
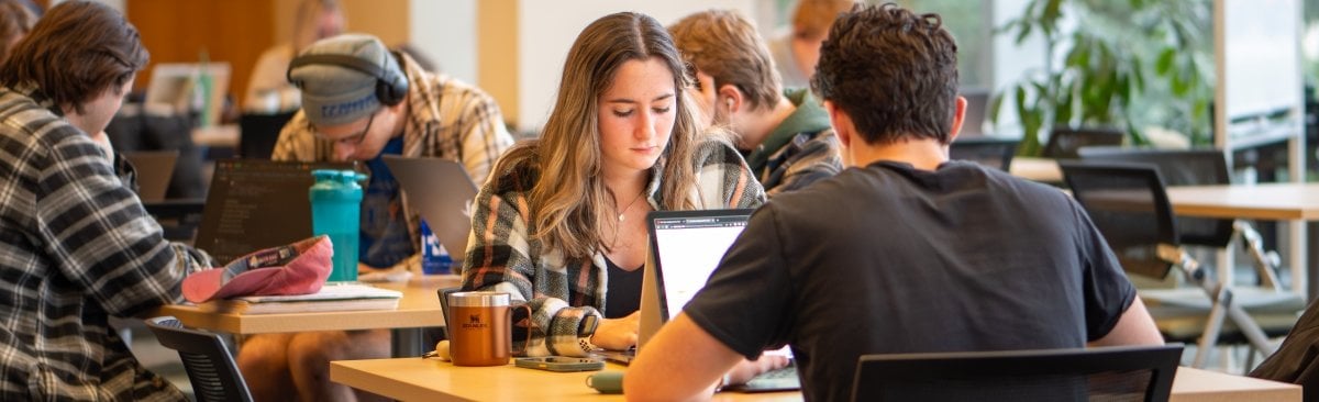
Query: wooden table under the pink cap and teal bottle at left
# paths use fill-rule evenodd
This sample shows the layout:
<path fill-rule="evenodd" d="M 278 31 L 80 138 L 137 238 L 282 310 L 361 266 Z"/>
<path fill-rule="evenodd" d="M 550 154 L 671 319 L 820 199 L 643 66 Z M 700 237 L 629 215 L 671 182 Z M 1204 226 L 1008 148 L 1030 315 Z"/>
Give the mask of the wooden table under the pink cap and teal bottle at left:
<path fill-rule="evenodd" d="M 230 314 L 173 304 L 158 308 L 154 316 L 173 315 L 187 327 L 237 335 L 389 328 L 396 330 L 394 356 L 421 356 L 421 328 L 445 326 L 435 290 L 458 286 L 460 281 L 458 275 L 423 275 L 400 283 L 373 283 L 404 293 L 397 310 Z"/>

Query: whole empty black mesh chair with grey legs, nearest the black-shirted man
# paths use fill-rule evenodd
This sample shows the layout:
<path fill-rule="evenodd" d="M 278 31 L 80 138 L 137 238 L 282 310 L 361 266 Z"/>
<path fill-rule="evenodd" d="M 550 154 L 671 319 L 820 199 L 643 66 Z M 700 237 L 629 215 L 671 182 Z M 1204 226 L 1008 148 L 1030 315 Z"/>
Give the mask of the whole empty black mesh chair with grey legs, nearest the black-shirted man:
<path fill-rule="evenodd" d="M 1210 351 L 1219 344 L 1224 320 L 1231 322 L 1254 351 L 1265 356 L 1273 353 L 1273 343 L 1246 312 L 1245 306 L 1257 311 L 1282 310 L 1286 314 L 1291 308 L 1290 301 L 1298 295 L 1277 293 L 1277 298 L 1257 302 L 1233 299 L 1231 283 L 1217 283 L 1182 249 L 1174 229 L 1173 208 L 1154 165 L 1062 161 L 1059 167 L 1072 196 L 1086 208 L 1126 273 L 1159 279 L 1177 269 L 1188 283 L 1200 287 L 1204 295 L 1194 297 L 1194 301 L 1187 301 L 1186 293 L 1141 293 L 1142 298 L 1153 303 L 1181 306 L 1204 318 L 1204 324 L 1198 331 L 1195 366 L 1207 364 Z M 1293 316 L 1294 312 L 1291 310 Z M 1155 322 L 1161 322 L 1157 314 Z M 1166 322 L 1159 323 L 1165 337 L 1171 339 L 1166 328 Z M 1281 328 L 1270 330 L 1286 333 L 1287 328 L 1290 323 L 1283 322 Z"/>

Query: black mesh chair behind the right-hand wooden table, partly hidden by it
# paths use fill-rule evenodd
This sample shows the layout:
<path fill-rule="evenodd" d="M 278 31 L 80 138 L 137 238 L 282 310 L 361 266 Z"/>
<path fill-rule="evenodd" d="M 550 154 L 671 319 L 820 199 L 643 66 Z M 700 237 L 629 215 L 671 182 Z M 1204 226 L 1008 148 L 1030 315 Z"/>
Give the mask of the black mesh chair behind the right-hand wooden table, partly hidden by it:
<path fill-rule="evenodd" d="M 1167 186 L 1231 185 L 1227 157 L 1219 149 L 1161 150 L 1117 146 L 1088 146 L 1079 152 L 1083 161 L 1115 161 L 1154 165 Z M 1264 250 L 1264 240 L 1249 223 L 1235 219 L 1178 217 L 1178 240 L 1182 244 L 1227 248 L 1240 235 L 1244 246 L 1261 273 L 1260 283 L 1278 289 L 1281 258 Z"/>

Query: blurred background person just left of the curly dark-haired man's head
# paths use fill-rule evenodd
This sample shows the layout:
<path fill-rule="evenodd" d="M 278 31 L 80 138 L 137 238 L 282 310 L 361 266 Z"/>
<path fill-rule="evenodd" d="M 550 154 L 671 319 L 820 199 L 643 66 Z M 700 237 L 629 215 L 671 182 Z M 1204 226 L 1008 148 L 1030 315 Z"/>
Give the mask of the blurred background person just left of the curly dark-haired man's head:
<path fill-rule="evenodd" d="M 774 65 L 783 75 L 783 86 L 810 86 L 815 62 L 820 58 L 820 42 L 839 13 L 852 8 L 853 0 L 801 0 L 793 8 L 791 30 L 769 42 Z"/>

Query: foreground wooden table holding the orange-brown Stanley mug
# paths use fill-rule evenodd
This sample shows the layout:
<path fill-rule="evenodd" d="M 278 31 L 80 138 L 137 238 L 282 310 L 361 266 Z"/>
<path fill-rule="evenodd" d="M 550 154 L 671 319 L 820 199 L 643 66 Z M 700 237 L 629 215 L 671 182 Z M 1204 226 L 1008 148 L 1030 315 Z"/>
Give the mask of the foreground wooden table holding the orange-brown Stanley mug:
<path fill-rule="evenodd" d="M 621 370 L 609 364 L 607 370 Z M 596 372 L 550 373 L 516 368 L 458 368 L 426 359 L 331 361 L 330 380 L 398 401 L 623 401 L 586 386 Z M 801 401 L 802 394 L 720 393 L 714 401 Z M 1301 386 L 1178 368 L 1170 401 L 1301 401 Z"/>

